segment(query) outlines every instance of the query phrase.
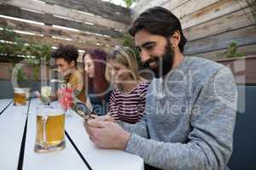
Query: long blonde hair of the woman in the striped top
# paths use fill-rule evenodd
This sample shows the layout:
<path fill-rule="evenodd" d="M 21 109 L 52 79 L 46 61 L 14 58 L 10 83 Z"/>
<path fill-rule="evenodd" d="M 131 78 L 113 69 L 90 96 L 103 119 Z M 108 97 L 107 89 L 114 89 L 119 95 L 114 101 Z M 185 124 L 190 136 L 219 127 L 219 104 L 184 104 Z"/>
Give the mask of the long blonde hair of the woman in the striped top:
<path fill-rule="evenodd" d="M 107 60 L 110 59 L 122 65 L 125 65 L 126 68 L 131 71 L 131 77 L 134 78 L 136 82 L 143 81 L 143 78 L 140 77 L 138 73 L 137 56 L 131 48 L 120 46 L 114 47 L 111 53 L 108 55 Z M 111 82 L 113 84 L 113 78 L 111 77 L 109 71 L 109 65 L 107 65 L 105 73 L 108 82 Z"/>

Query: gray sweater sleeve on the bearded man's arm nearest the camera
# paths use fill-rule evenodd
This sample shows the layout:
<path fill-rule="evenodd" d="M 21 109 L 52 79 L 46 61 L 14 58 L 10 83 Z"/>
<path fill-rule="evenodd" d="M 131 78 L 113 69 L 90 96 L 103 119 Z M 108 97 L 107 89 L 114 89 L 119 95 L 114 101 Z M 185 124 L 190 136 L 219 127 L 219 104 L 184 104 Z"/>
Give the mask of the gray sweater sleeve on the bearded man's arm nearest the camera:
<path fill-rule="evenodd" d="M 195 99 L 187 143 L 160 142 L 132 133 L 125 150 L 163 169 L 225 169 L 232 153 L 236 97 L 230 69 L 220 69 Z"/>

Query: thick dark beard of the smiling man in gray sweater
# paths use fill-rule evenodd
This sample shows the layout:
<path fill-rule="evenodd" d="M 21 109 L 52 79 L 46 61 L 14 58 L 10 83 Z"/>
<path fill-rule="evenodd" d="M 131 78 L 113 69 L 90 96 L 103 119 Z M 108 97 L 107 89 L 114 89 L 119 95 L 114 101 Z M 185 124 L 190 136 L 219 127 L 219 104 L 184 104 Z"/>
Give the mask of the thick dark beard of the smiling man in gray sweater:
<path fill-rule="evenodd" d="M 165 54 L 162 56 L 150 56 L 150 59 L 145 63 L 146 67 L 154 72 L 154 77 L 160 78 L 166 76 L 166 74 L 172 70 L 174 52 L 172 44 L 167 41 Z M 151 68 L 149 63 L 156 62 L 156 66 Z"/>

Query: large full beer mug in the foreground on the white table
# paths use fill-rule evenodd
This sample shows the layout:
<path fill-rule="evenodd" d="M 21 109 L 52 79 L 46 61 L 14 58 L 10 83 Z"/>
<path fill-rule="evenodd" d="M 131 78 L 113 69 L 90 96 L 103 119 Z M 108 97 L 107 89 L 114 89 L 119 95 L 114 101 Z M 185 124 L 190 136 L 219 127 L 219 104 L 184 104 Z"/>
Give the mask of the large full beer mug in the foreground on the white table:
<path fill-rule="evenodd" d="M 55 105 L 39 105 L 35 152 L 61 150 L 65 145 L 65 111 L 57 102 Z"/>

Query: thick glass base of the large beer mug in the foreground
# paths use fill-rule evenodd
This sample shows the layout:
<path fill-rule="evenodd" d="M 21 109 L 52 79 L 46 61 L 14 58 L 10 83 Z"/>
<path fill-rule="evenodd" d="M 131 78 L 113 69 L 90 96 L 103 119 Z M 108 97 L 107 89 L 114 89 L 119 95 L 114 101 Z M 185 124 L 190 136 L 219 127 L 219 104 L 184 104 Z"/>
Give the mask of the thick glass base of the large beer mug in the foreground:
<path fill-rule="evenodd" d="M 42 146 L 40 144 L 35 144 L 34 151 L 36 153 L 49 153 L 55 150 L 63 150 L 66 147 L 65 140 L 61 141 L 60 144 L 51 146 Z"/>

